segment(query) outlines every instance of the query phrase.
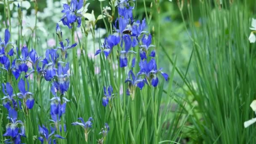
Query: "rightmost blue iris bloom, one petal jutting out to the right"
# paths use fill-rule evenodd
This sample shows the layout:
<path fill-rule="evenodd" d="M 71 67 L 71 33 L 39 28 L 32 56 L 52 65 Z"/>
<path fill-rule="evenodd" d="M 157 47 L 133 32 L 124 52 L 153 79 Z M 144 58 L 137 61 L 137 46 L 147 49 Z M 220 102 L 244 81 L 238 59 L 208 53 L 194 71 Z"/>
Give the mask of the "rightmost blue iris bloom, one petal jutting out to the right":
<path fill-rule="evenodd" d="M 158 77 L 157 74 L 161 73 L 165 80 L 168 80 L 168 75 L 162 72 L 162 68 L 157 69 L 157 64 L 155 59 L 151 59 L 148 63 L 146 60 L 140 61 L 139 63 L 140 71 L 138 75 L 145 76 L 146 80 L 151 82 L 152 86 L 156 87 L 158 84 Z"/>

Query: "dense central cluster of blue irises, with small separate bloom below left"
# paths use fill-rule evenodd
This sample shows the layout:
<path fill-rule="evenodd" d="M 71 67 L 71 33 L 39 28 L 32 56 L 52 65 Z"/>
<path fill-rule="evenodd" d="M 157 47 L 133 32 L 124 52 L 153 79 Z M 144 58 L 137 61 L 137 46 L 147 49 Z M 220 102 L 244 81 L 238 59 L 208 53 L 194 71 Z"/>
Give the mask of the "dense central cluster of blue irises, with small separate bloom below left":
<path fill-rule="evenodd" d="M 131 95 L 132 99 L 134 99 L 136 87 L 142 89 L 145 84 L 156 87 L 158 85 L 158 74 L 163 75 L 165 80 L 168 80 L 168 75 L 162 72 L 162 68 L 157 69 L 154 59 L 155 45 L 152 45 L 152 35 L 145 31 L 147 27 L 145 19 L 142 21 L 133 19 L 134 1 L 119 1 L 117 5 L 119 18 L 115 21 L 115 32 L 105 38 L 101 49 L 95 53 L 95 55 L 98 55 L 103 52 L 108 58 L 113 48 L 119 45 L 122 48 L 118 55 L 120 67 L 128 67 L 129 61 L 131 61 L 131 67 L 134 67 L 136 64 L 135 55 L 139 52 L 140 61 L 138 64 L 140 70 L 136 75 L 130 70 L 128 79 L 125 80 L 125 83 L 128 83 L 126 94 Z M 132 59 L 130 59 L 131 56 L 133 56 Z M 104 107 L 106 107 L 110 98 L 105 93 L 104 89 L 105 96 L 102 101 Z"/>

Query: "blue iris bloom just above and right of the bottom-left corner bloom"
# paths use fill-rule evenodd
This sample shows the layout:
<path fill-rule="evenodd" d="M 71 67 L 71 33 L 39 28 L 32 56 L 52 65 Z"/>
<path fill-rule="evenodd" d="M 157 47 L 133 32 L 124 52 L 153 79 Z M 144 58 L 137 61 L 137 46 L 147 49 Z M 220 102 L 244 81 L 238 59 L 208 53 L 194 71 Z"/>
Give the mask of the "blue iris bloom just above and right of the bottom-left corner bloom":
<path fill-rule="evenodd" d="M 33 93 L 29 92 L 29 83 L 27 81 L 27 91 L 25 88 L 25 82 L 24 80 L 20 80 L 18 83 L 18 88 L 20 93 L 17 93 L 17 96 L 19 96 L 19 98 L 24 99 L 24 101 L 26 101 L 26 106 L 28 109 L 32 109 L 32 107 L 34 106 L 34 98 L 33 98 Z"/>

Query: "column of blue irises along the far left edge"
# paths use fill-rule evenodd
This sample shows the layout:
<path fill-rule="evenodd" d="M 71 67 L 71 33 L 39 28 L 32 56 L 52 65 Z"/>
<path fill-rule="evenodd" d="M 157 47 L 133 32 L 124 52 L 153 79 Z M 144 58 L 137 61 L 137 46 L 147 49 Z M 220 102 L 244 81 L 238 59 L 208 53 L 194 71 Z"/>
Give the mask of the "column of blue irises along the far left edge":
<path fill-rule="evenodd" d="M 21 48 L 21 55 L 19 55 L 18 48 L 16 48 L 16 53 L 14 52 L 14 43 L 10 42 L 10 38 L 10 32 L 8 29 L 5 29 L 4 41 L 0 38 L 0 68 L 3 69 L 1 72 L 6 72 L 5 74 L 8 75 L 6 83 L 2 83 L 2 92 L 4 93 L 2 100 L 3 106 L 8 110 L 7 119 L 10 123 L 6 125 L 6 132 L 3 136 L 10 138 L 5 140 L 5 143 L 20 144 L 21 136 L 26 136 L 24 124 L 21 120 L 18 120 L 17 110 L 22 109 L 22 104 L 24 104 L 25 109 L 32 109 L 34 106 L 34 98 L 33 94 L 29 92 L 29 84 L 27 84 L 26 89 L 23 79 L 18 83 L 19 93 L 13 93 L 13 87 L 11 85 L 12 76 L 14 76 L 16 80 L 18 80 L 21 75 L 26 76 L 29 69 L 27 63 L 30 59 L 26 46 Z M 22 100 L 16 99 L 16 96 L 23 99 L 23 103 L 21 103 Z"/>

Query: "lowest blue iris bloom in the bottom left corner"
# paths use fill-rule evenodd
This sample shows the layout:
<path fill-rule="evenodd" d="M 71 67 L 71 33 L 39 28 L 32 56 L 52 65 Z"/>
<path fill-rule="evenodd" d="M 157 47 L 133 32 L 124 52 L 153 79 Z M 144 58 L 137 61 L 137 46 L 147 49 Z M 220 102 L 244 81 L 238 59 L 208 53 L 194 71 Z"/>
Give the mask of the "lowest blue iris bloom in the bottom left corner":
<path fill-rule="evenodd" d="M 3 136 L 11 136 L 11 139 L 8 139 L 8 141 L 5 142 L 11 143 L 12 140 L 14 144 L 20 144 L 21 136 L 26 137 L 24 125 L 20 120 L 17 120 L 17 112 L 14 108 L 9 109 L 8 111 L 9 115 L 7 118 L 11 121 L 11 123 L 6 126 L 6 132 L 3 134 Z M 19 127 L 19 125 L 21 126 Z"/>

